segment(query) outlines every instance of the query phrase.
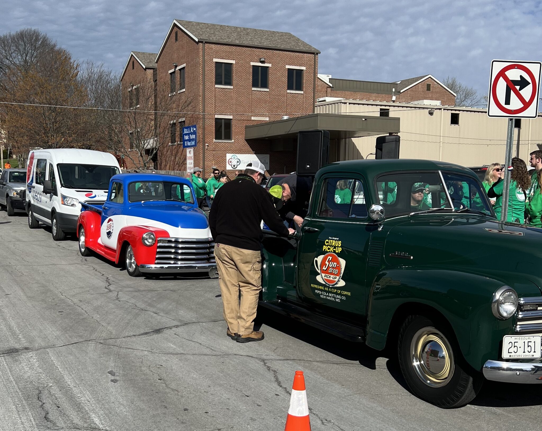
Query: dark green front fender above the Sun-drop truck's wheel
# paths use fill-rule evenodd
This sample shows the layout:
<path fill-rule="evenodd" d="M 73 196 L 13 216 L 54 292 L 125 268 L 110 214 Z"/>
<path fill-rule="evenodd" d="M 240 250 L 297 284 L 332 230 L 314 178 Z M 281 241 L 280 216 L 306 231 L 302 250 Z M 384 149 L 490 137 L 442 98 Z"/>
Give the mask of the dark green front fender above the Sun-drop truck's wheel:
<path fill-rule="evenodd" d="M 367 345 L 384 349 L 386 338 L 398 332 L 406 316 L 424 314 L 430 319 L 446 319 L 463 357 L 481 370 L 488 359 L 499 359 L 502 337 L 513 334 L 516 318 L 499 320 L 491 310 L 493 293 L 504 284 L 459 271 L 382 271 L 369 293 Z"/>

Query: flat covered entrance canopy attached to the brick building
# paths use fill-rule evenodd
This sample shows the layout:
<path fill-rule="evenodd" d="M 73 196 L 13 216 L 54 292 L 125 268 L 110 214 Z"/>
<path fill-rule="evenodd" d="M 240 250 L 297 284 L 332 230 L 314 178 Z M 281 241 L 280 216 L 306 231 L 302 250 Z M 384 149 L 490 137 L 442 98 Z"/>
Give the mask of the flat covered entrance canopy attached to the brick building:
<path fill-rule="evenodd" d="M 244 139 L 249 145 L 250 140 L 268 140 L 270 151 L 292 151 L 302 130 L 330 132 L 332 156 L 334 147 L 338 149 L 343 139 L 399 133 L 399 118 L 315 113 L 245 126 Z"/>

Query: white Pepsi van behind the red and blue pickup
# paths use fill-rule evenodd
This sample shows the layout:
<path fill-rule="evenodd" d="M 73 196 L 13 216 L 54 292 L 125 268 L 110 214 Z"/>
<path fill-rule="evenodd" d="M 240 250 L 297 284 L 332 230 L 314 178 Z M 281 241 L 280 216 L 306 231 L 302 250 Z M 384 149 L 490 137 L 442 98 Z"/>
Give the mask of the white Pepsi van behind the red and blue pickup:
<path fill-rule="evenodd" d="M 46 224 L 55 241 L 75 233 L 80 202 L 103 204 L 109 180 L 117 173 L 119 163 L 111 153 L 74 148 L 30 151 L 25 198 L 29 228 Z"/>

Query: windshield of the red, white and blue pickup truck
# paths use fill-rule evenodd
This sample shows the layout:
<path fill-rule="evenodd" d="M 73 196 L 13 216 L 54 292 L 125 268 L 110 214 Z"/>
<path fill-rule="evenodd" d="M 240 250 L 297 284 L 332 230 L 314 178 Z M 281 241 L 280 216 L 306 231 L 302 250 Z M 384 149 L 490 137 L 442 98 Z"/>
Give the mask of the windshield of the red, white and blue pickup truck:
<path fill-rule="evenodd" d="M 133 182 L 128 185 L 128 201 L 178 201 L 194 203 L 190 187 L 186 184 L 152 181 Z"/>

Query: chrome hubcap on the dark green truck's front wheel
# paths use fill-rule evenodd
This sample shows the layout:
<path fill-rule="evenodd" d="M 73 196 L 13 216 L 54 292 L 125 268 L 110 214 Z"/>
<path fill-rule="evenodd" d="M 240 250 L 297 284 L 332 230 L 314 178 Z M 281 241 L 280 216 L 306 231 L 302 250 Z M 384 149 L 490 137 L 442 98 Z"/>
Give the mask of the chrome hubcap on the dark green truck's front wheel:
<path fill-rule="evenodd" d="M 412 367 L 420 380 L 431 388 L 446 385 L 454 374 L 450 343 L 433 327 L 416 332 L 410 344 Z"/>

